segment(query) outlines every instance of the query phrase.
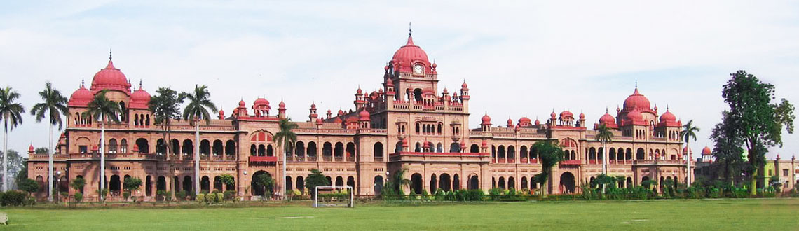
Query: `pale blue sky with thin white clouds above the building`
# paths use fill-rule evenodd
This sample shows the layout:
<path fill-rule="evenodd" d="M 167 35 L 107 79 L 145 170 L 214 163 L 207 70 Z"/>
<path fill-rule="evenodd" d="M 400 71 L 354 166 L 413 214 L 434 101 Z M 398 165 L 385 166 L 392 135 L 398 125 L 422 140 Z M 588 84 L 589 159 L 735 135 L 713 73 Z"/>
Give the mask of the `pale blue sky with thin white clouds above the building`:
<path fill-rule="evenodd" d="M 486 112 L 497 125 L 553 110 L 593 124 L 638 82 L 659 113 L 694 120 L 698 152 L 713 146 L 729 108 L 721 86 L 736 70 L 799 102 L 796 12 L 792 1 L 3 1 L 0 86 L 30 110 L 45 82 L 69 97 L 113 50 L 114 66 L 151 94 L 207 85 L 227 112 L 240 99 L 282 99 L 304 121 L 312 102 L 348 110 L 359 86 L 380 88 L 410 22 L 439 90 L 469 84 L 472 128 Z M 26 114 L 9 148 L 47 146 L 47 133 Z M 782 139 L 767 157 L 799 151 L 799 135 Z"/>

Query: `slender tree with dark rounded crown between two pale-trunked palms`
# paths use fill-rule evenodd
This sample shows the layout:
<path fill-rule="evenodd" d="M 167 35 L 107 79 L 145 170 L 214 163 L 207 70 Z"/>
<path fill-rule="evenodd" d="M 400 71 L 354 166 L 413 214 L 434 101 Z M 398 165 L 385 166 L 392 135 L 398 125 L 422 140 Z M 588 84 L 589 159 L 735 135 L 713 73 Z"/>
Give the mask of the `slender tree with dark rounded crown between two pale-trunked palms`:
<path fill-rule="evenodd" d="M 181 108 L 180 105 L 183 103 L 183 98 L 177 91 L 172 90 L 169 87 L 160 87 L 156 91 L 156 95 L 153 98 L 150 98 L 148 103 L 148 110 L 150 113 L 153 114 L 155 117 L 155 122 L 158 125 L 161 125 L 161 137 L 164 140 L 164 144 L 166 145 L 166 160 L 169 162 L 169 169 L 174 169 L 173 161 L 169 161 L 170 154 L 173 153 L 172 145 L 169 145 L 169 141 L 172 140 L 172 136 L 170 134 L 172 130 L 172 121 L 181 118 Z M 172 197 L 175 197 L 175 172 L 173 170 L 169 170 L 170 173 L 170 181 L 171 187 L 169 192 L 172 193 Z"/>

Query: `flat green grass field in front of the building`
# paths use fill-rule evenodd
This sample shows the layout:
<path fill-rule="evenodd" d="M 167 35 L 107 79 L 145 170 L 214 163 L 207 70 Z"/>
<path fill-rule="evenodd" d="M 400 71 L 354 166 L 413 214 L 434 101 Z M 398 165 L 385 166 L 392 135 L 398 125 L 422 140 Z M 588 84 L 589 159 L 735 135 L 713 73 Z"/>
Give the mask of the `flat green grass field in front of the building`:
<path fill-rule="evenodd" d="M 799 230 L 799 199 L 2 209 L 0 230 Z"/>

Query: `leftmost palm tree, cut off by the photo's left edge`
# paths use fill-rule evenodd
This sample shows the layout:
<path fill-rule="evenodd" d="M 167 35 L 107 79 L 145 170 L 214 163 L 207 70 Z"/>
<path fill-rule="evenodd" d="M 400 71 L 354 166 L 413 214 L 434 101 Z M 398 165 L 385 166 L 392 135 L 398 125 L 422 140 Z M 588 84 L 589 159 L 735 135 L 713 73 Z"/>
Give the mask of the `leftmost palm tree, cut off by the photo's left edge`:
<path fill-rule="evenodd" d="M 3 143 L 2 143 L 2 191 L 8 190 L 8 131 L 22 124 L 22 114 L 25 107 L 21 103 L 14 102 L 19 98 L 19 94 L 11 90 L 10 86 L 0 89 L 0 120 L 3 121 Z M 52 178 L 51 178 L 52 179 Z M 51 180 L 52 181 L 52 180 Z"/>

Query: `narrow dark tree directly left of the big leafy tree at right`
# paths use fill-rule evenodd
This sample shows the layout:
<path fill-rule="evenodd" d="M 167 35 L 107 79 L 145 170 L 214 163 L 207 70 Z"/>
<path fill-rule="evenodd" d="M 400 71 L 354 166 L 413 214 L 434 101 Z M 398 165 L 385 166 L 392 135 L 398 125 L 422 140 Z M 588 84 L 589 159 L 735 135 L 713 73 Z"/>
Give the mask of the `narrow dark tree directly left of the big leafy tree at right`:
<path fill-rule="evenodd" d="M 728 110 L 721 112 L 721 122 L 713 128 L 710 138 L 716 143 L 713 149 L 716 163 L 724 168 L 725 182 L 732 185 L 732 173 L 735 172 L 733 167 L 743 162 L 744 149 L 741 148 L 743 140 L 737 136 L 735 129 L 729 126 Z"/>

